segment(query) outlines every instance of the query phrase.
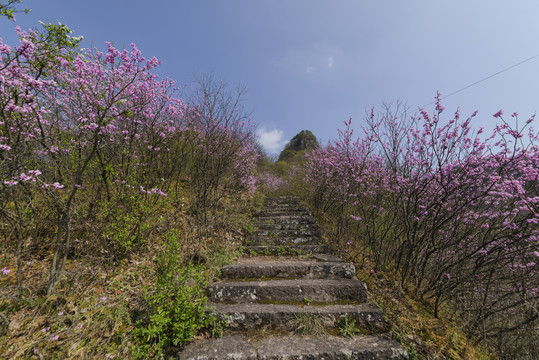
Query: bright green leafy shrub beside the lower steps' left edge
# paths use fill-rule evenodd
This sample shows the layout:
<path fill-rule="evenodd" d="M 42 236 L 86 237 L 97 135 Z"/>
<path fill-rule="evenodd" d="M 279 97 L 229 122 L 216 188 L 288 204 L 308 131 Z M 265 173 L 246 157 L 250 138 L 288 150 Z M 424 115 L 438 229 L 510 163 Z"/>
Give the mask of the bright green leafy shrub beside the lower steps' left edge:
<path fill-rule="evenodd" d="M 191 341 L 202 329 L 219 334 L 222 322 L 205 311 L 208 272 L 203 266 L 184 265 L 178 232 L 166 236 L 165 249 L 156 259 L 156 283 L 144 290 L 148 309 L 136 323 L 137 358 L 164 358 L 166 351 Z"/>

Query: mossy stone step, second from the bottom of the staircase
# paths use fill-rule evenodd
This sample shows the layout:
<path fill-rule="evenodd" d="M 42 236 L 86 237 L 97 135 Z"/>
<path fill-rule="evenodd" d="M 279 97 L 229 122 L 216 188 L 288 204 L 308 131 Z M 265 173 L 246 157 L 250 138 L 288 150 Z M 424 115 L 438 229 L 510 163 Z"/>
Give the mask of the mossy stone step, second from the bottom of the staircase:
<path fill-rule="evenodd" d="M 300 306 L 289 304 L 208 304 L 218 318 L 226 319 L 231 331 L 295 331 L 302 319 L 316 318 L 325 328 L 337 328 L 345 321 L 366 332 L 383 330 L 382 312 L 368 304 Z"/>

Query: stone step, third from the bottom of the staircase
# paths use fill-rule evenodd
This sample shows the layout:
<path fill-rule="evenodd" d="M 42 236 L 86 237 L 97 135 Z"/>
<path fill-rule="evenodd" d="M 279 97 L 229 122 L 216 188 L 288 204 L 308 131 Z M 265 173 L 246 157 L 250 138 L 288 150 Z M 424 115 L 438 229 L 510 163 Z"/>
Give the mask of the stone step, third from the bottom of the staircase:
<path fill-rule="evenodd" d="M 227 303 L 363 303 L 367 286 L 353 279 L 217 282 L 208 286 L 208 299 Z"/>

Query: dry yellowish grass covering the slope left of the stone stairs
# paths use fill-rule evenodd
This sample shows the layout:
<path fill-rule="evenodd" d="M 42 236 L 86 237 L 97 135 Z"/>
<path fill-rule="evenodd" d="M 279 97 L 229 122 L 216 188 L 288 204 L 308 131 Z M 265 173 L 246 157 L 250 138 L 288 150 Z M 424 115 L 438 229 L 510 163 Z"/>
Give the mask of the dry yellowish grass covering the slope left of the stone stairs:
<path fill-rule="evenodd" d="M 26 249 L 20 289 L 15 252 L 5 250 L 0 268 L 11 272 L 0 274 L 0 314 L 7 320 L 7 331 L 0 331 L 0 359 L 131 358 L 131 333 L 145 306 L 143 289 L 153 284 L 154 259 L 167 228 L 180 230 L 184 260 L 207 264 L 214 276 L 219 266 L 238 255 L 241 224 L 250 210 L 224 208 L 226 221 L 215 221 L 209 231 L 199 231 L 185 213 L 176 218 L 160 213 L 163 221 L 152 237 L 128 257 L 90 253 L 69 259 L 54 296 L 45 295 L 49 248 Z"/>

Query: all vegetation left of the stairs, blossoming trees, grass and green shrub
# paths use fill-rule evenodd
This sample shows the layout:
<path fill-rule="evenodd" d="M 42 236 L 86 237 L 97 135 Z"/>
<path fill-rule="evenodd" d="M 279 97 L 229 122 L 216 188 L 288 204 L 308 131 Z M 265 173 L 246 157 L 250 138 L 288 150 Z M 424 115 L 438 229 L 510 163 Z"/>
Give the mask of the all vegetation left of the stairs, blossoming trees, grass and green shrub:
<path fill-rule="evenodd" d="M 218 333 L 204 288 L 255 199 L 241 91 L 205 76 L 181 97 L 134 44 L 18 33 L 0 43 L 1 357 L 161 357 Z"/>

